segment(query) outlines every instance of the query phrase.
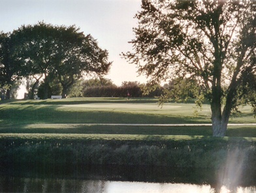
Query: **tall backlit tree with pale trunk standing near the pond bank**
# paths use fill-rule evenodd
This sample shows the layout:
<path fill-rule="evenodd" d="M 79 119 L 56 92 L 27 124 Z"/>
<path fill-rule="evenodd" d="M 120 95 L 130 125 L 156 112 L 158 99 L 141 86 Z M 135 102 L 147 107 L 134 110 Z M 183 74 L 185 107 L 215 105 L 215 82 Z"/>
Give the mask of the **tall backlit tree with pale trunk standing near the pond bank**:
<path fill-rule="evenodd" d="M 213 136 L 225 136 L 238 101 L 250 93 L 246 102 L 255 104 L 255 1 L 142 0 L 135 18 L 133 52 L 124 57 L 155 82 L 197 80 L 210 101 Z"/>

